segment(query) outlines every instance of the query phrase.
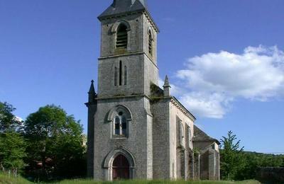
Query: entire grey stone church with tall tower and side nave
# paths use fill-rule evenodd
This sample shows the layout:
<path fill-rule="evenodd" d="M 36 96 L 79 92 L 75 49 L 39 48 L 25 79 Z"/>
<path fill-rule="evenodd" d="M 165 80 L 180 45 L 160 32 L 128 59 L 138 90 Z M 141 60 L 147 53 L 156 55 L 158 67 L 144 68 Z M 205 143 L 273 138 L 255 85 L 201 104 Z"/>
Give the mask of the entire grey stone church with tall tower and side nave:
<path fill-rule="evenodd" d="M 219 142 L 170 95 L 167 76 L 158 86 L 159 29 L 146 0 L 114 0 L 98 18 L 98 91 L 92 81 L 86 103 L 88 176 L 219 180 Z"/>

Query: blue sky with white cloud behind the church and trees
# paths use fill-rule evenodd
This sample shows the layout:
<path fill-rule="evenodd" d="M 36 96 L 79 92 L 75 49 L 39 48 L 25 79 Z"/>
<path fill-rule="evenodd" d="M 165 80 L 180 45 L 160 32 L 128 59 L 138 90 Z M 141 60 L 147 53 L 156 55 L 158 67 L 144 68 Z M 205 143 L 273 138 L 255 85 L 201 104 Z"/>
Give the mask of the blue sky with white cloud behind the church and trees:
<path fill-rule="evenodd" d="M 61 105 L 86 128 L 100 25 L 111 0 L 0 0 L 0 100 L 23 119 Z M 173 93 L 220 139 L 284 152 L 284 1 L 149 0 L 158 66 Z"/>

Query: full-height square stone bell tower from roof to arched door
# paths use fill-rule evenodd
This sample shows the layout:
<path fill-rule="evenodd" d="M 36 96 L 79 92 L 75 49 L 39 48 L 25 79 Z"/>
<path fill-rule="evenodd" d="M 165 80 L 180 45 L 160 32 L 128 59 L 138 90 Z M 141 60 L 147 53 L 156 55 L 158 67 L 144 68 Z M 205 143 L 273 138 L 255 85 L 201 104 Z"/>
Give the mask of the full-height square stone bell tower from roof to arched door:
<path fill-rule="evenodd" d="M 146 0 L 114 0 L 98 18 L 98 91 L 94 93 L 92 82 L 86 103 L 88 176 L 97 180 L 151 179 L 150 96 L 151 85 L 158 86 L 158 27 Z M 121 173 L 122 168 L 125 172 Z"/>

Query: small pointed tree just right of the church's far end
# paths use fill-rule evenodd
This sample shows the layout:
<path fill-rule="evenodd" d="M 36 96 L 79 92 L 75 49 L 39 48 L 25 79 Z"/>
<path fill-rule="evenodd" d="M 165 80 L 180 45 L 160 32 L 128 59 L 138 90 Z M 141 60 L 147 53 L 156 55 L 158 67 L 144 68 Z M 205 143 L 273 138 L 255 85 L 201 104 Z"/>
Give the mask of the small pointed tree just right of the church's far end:
<path fill-rule="evenodd" d="M 244 166 L 244 159 L 242 151 L 244 147 L 240 148 L 240 140 L 237 141 L 236 135 L 233 132 L 228 132 L 228 137 L 222 137 L 220 150 L 220 171 L 222 179 L 235 179 L 236 173 Z"/>

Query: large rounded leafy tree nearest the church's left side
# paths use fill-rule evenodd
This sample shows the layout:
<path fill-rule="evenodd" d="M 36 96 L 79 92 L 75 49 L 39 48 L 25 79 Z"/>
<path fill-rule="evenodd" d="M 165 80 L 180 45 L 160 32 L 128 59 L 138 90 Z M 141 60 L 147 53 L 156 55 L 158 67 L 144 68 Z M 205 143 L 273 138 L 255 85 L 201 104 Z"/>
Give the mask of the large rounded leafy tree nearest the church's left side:
<path fill-rule="evenodd" d="M 28 163 L 38 164 L 48 178 L 81 176 L 84 172 L 82 125 L 55 105 L 47 105 L 28 115 L 24 132 L 28 139 Z"/>

